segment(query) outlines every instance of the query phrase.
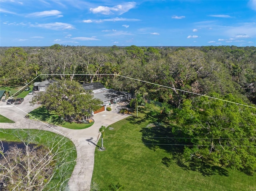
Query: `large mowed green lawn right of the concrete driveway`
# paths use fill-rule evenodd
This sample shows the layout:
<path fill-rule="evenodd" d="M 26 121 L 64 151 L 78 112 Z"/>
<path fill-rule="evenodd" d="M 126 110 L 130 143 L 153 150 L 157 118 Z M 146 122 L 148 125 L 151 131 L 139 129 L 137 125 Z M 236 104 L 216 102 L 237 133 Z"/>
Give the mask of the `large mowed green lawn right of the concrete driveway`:
<path fill-rule="evenodd" d="M 150 127 L 149 115 L 128 117 L 107 129 L 104 152 L 95 150 L 92 183 L 107 188 L 120 183 L 125 191 L 255 191 L 256 175 L 208 165 L 184 163 L 177 158 L 179 146 L 154 146 L 167 126 Z M 147 136 L 154 136 L 150 140 Z M 98 142 L 100 146 L 101 142 Z"/>

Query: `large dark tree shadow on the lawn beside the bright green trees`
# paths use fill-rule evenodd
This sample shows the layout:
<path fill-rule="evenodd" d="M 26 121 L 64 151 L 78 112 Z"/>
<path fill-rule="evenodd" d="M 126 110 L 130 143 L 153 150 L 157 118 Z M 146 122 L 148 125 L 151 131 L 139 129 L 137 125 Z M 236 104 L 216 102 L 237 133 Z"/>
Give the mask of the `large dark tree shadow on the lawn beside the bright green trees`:
<path fill-rule="evenodd" d="M 211 175 L 224 175 L 228 176 L 228 171 L 223 167 L 209 162 L 203 162 L 202 159 L 192 159 L 191 161 L 184 161 L 183 150 L 184 145 L 188 144 L 184 135 L 175 136 L 172 133 L 172 126 L 165 126 L 161 123 L 155 122 L 141 129 L 142 142 L 150 149 L 157 150 L 158 148 L 163 149 L 166 153 L 170 154 L 171 157 L 162 158 L 162 163 L 166 167 L 170 167 L 170 163 L 175 162 L 184 170 L 198 171 L 203 176 Z"/>

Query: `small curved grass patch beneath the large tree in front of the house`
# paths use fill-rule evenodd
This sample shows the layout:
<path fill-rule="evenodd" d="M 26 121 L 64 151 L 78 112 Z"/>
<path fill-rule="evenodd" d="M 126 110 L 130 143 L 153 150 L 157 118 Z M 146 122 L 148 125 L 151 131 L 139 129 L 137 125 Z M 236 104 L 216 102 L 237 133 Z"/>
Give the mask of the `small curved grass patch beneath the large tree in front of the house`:
<path fill-rule="evenodd" d="M 62 118 L 54 112 L 47 110 L 44 106 L 41 106 L 39 108 L 36 108 L 32 112 L 29 113 L 30 115 L 34 116 L 35 118 L 39 119 L 40 121 L 47 122 L 49 124 L 55 124 L 58 126 L 62 126 L 69 129 L 85 129 L 94 124 L 94 122 L 84 124 L 84 123 L 68 123 L 64 122 Z M 31 119 L 34 119 L 31 117 Z"/>

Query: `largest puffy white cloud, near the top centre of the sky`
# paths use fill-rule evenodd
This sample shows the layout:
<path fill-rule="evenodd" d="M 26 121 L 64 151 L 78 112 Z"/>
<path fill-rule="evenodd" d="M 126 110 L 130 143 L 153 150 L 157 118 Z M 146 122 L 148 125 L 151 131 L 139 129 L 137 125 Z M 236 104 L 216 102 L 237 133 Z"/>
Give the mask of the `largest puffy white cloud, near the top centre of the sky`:
<path fill-rule="evenodd" d="M 136 5 L 135 2 L 128 2 L 124 3 L 122 5 L 116 5 L 113 7 L 108 7 L 108 6 L 98 6 L 96 8 L 90 8 L 90 11 L 94 14 L 100 13 L 104 15 L 110 15 L 110 14 L 123 14 L 125 12 L 128 12 L 130 9 L 134 8 Z"/>

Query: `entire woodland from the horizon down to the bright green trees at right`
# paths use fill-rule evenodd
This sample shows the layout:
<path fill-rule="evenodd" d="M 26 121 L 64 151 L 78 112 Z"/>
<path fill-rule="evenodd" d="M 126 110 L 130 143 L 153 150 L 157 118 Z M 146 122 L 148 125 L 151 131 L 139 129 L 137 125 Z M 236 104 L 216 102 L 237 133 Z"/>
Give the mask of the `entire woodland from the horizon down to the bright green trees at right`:
<path fill-rule="evenodd" d="M 214 161 L 247 173 L 256 171 L 255 108 L 198 96 L 255 107 L 256 47 L 55 44 L 40 49 L 1 49 L 2 86 L 24 85 L 39 74 L 50 75 L 37 81 L 100 81 L 108 88 L 132 93 L 137 108 L 142 102 L 160 102 L 161 107 L 152 104 L 151 110 L 168 116 L 172 136 L 187 138 L 181 141 L 190 145 L 184 147 L 184 158 Z"/>

